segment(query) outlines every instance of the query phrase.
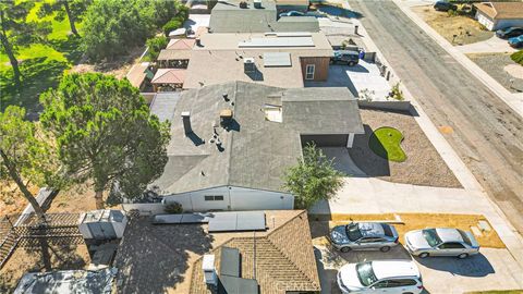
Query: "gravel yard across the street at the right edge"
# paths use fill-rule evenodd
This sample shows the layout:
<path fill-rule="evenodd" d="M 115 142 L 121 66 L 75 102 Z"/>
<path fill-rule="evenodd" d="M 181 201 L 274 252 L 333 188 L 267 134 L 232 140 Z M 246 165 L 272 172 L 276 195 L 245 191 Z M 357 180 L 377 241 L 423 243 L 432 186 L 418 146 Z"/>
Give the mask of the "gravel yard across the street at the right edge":
<path fill-rule="evenodd" d="M 509 64 L 518 65 L 510 59 L 510 53 L 475 53 L 467 54 L 467 57 L 508 90 L 512 93 L 523 91 L 523 76 L 518 78 L 504 71 L 504 66 Z M 514 81 L 512 87 L 511 78 Z"/>

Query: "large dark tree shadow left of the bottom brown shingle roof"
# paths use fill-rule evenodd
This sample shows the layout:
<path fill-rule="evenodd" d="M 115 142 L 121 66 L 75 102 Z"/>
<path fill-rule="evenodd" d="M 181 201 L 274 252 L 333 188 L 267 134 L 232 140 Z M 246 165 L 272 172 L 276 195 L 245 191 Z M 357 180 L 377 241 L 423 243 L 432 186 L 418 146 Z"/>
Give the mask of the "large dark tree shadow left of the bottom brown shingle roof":
<path fill-rule="evenodd" d="M 214 237 L 199 224 L 154 225 L 133 218 L 118 248 L 114 266 L 122 274 L 118 293 L 166 293 L 191 277 L 190 252 L 210 250 Z"/>

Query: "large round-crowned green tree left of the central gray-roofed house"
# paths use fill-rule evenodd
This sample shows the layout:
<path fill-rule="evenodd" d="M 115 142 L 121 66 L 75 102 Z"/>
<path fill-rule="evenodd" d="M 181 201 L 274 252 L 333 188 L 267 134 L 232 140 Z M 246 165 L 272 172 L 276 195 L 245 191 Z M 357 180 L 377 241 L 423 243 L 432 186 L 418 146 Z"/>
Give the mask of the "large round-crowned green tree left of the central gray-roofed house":
<path fill-rule="evenodd" d="M 98 209 L 104 208 L 104 191 L 114 184 L 133 198 L 163 172 L 169 124 L 149 113 L 127 79 L 65 75 L 40 101 L 40 121 L 57 137 L 66 174 L 93 183 Z"/>

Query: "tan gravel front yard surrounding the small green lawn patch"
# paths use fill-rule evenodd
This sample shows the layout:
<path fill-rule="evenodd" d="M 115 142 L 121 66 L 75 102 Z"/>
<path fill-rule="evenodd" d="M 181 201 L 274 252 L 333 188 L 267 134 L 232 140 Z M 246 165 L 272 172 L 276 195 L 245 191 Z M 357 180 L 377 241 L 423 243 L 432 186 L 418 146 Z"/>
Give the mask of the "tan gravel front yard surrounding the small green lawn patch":
<path fill-rule="evenodd" d="M 349 149 L 354 163 L 370 176 L 393 183 L 438 187 L 461 187 L 428 138 L 410 114 L 361 109 L 364 135 L 356 135 Z M 392 162 L 375 155 L 368 148 L 368 138 L 381 126 L 398 128 L 404 136 L 401 143 L 406 154 L 404 162 Z"/>

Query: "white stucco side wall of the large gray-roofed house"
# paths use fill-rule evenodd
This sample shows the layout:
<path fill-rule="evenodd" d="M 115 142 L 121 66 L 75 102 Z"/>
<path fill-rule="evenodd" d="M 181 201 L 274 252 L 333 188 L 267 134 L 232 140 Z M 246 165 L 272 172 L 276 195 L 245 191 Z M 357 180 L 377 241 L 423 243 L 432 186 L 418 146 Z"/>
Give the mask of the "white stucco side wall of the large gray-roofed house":
<path fill-rule="evenodd" d="M 223 196 L 223 200 L 205 200 Z M 178 201 L 187 211 L 293 209 L 294 197 L 287 193 L 222 186 L 166 196 L 165 203 Z"/>

